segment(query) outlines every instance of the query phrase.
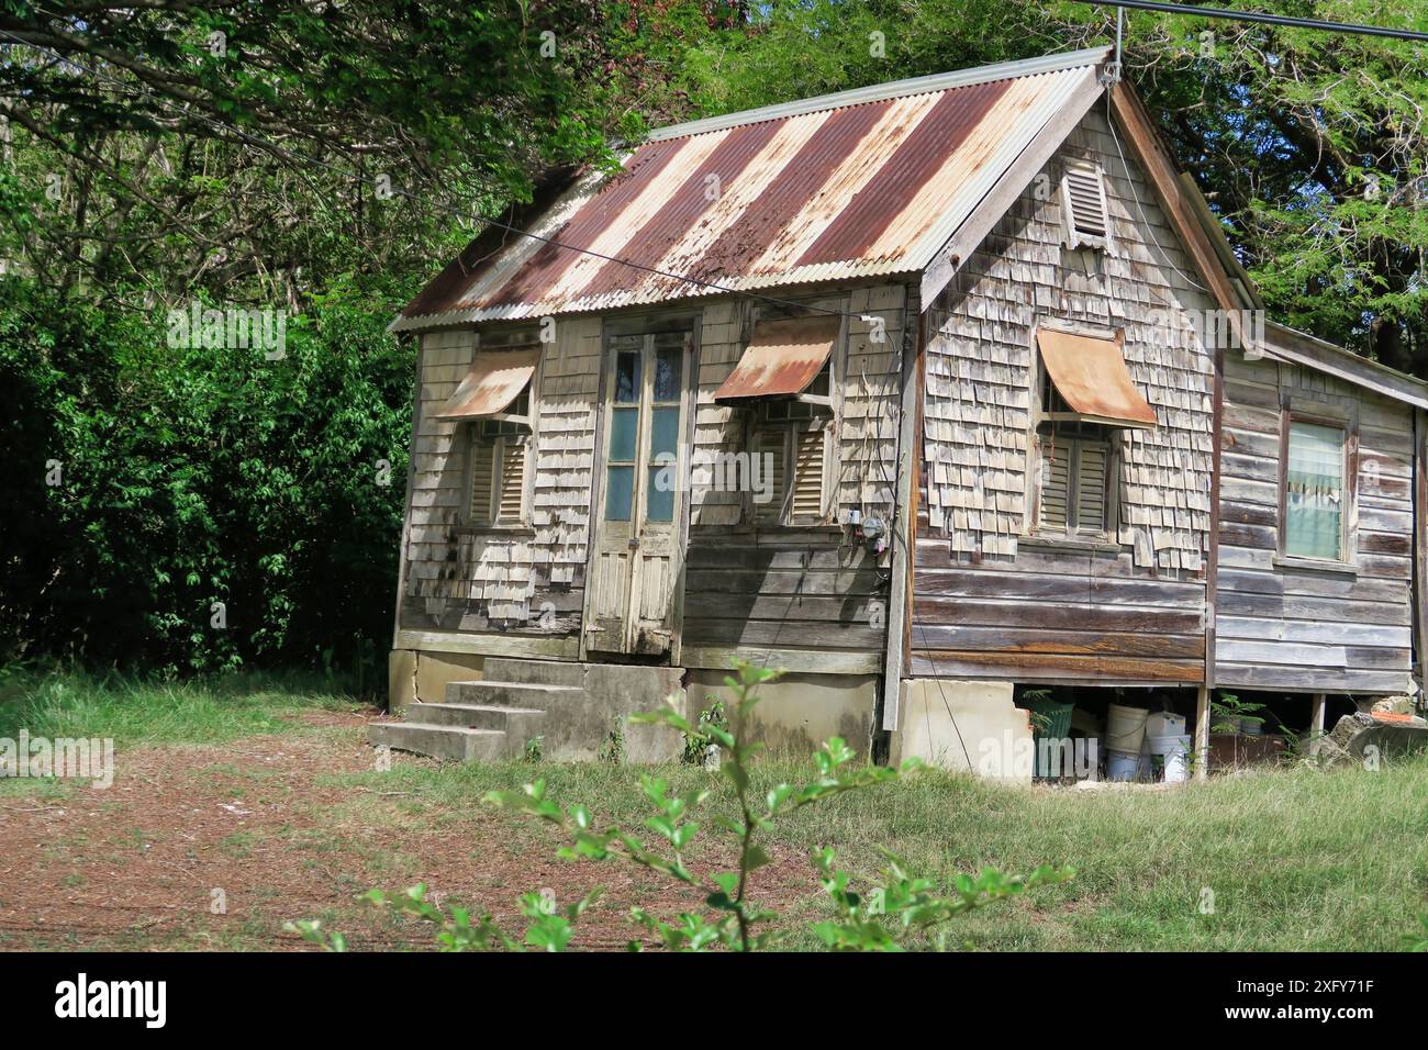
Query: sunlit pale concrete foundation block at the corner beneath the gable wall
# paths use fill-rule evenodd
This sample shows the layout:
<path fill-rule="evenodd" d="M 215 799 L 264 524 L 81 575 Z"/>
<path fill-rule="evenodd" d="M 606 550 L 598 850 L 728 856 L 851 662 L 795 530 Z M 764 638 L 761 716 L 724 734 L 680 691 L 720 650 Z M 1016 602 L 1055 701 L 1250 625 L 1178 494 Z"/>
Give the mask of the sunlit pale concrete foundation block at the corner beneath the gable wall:
<path fill-rule="evenodd" d="M 1031 783 L 1031 719 L 1010 681 L 904 679 L 892 761 L 921 759 L 951 770 Z"/>

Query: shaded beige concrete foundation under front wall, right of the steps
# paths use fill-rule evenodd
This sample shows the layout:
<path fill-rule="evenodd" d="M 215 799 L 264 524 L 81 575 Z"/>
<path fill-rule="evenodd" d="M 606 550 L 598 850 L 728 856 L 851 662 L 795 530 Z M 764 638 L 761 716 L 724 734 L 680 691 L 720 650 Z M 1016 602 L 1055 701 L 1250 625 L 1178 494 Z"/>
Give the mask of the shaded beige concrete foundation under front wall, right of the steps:
<path fill-rule="evenodd" d="M 715 700 L 725 706 L 733 690 L 724 686 L 730 671 L 697 669 L 688 677 L 691 717 Z M 770 750 L 807 756 L 831 736 L 848 741 L 861 757 L 873 737 L 877 703 L 875 674 L 785 674 L 760 686 L 750 731 Z"/>

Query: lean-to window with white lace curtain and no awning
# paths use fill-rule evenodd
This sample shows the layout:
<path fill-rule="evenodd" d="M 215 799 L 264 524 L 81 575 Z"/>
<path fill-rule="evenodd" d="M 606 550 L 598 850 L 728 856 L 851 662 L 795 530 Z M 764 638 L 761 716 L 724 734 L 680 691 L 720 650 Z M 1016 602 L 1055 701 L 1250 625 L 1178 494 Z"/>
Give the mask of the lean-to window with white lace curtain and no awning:
<path fill-rule="evenodd" d="M 1342 427 L 1289 423 L 1284 474 L 1284 553 L 1344 560 Z"/>

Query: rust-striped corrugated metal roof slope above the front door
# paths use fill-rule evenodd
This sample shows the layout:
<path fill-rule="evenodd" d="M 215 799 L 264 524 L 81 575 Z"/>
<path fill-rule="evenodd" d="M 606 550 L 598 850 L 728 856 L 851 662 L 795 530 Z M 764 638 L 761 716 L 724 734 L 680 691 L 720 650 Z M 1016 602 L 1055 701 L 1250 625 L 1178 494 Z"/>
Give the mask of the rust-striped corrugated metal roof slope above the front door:
<path fill-rule="evenodd" d="M 1100 47 L 664 129 L 530 227 L 560 246 L 520 237 L 447 267 L 393 327 L 921 270 L 1105 59 Z"/>

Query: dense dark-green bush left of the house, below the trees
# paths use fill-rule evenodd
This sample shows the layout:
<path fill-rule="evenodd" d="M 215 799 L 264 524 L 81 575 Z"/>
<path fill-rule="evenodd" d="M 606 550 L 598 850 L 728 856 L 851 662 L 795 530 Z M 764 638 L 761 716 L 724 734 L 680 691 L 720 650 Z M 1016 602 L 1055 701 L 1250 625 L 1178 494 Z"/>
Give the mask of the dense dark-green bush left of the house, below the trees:
<path fill-rule="evenodd" d="M 370 681 L 410 433 L 398 300 L 321 297 L 268 360 L 0 280 L 0 659 Z"/>

